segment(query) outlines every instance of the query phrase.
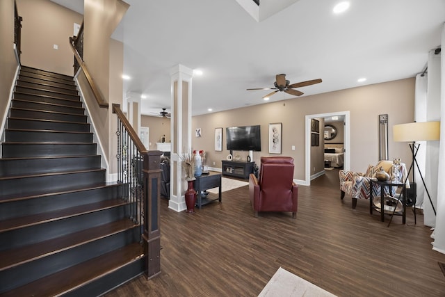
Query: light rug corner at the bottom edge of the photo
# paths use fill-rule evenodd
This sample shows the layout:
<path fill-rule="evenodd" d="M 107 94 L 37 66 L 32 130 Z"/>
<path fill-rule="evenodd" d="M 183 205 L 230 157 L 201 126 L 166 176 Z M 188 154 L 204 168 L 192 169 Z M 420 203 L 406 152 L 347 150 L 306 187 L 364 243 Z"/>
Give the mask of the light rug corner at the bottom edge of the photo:
<path fill-rule="evenodd" d="M 335 295 L 280 267 L 258 296 L 332 297 Z"/>

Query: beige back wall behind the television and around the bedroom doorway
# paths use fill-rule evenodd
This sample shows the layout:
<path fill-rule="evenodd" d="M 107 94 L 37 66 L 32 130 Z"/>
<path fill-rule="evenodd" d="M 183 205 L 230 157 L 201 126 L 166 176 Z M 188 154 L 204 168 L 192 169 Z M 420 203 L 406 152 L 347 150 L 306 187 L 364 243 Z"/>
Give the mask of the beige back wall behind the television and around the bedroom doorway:
<path fill-rule="evenodd" d="M 261 152 L 254 152 L 254 161 L 268 156 L 268 124 L 282 122 L 282 156 L 295 159 L 295 179 L 305 179 L 305 115 L 350 111 L 350 169 L 364 171 L 369 163 L 378 161 L 378 115 L 389 118 L 389 159 L 401 157 L 410 163 L 406 143 L 392 141 L 391 127 L 414 120 L 414 78 L 378 83 L 359 88 L 323 93 L 307 97 L 271 102 L 242 109 L 199 115 L 192 118 L 192 129 L 202 129 L 202 137 L 193 136 L 193 150 L 206 150 L 208 164 L 221 167 L 225 150 L 225 128 L 261 125 Z M 223 152 L 215 152 L 214 129 L 223 127 Z M 321 142 L 322 143 L 322 142 Z M 291 150 L 295 145 L 296 150 Z M 323 145 L 320 146 L 320 150 Z M 248 152 L 240 152 L 243 159 Z M 213 165 L 214 162 L 214 165 Z"/>

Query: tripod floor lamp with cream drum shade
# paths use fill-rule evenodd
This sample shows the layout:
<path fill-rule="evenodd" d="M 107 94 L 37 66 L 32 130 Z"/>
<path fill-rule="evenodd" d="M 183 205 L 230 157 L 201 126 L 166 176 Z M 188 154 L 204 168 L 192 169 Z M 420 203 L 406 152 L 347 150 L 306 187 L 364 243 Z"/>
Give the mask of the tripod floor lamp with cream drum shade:
<path fill-rule="evenodd" d="M 406 184 L 411 170 L 412 170 L 412 180 L 413 182 L 416 182 L 416 179 L 414 177 L 414 163 L 415 163 L 417 170 L 419 170 L 419 174 L 422 179 L 423 186 L 425 187 L 426 194 L 428 195 L 428 199 L 430 200 L 432 211 L 434 211 L 434 214 L 436 215 L 436 209 L 434 208 L 434 204 L 432 204 L 430 193 L 428 192 L 428 188 L 426 187 L 425 180 L 423 179 L 422 172 L 416 160 L 416 155 L 420 147 L 420 143 L 416 143 L 416 141 L 438 141 L 440 136 L 440 122 L 412 122 L 409 124 L 394 125 L 393 135 L 394 135 L 393 136 L 394 141 L 410 143 L 410 150 L 412 152 L 412 163 L 410 166 L 410 170 L 408 170 L 404 184 Z M 416 193 L 414 191 L 414 223 L 416 223 L 415 208 L 416 208 Z"/>

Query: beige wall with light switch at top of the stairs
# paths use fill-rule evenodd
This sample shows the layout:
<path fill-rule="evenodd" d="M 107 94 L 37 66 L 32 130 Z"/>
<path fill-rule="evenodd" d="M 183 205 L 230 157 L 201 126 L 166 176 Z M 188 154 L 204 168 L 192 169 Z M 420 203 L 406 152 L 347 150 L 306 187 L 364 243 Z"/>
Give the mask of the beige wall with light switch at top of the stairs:
<path fill-rule="evenodd" d="M 70 36 L 82 15 L 49 0 L 17 0 L 17 8 L 23 17 L 22 65 L 72 76 Z"/>

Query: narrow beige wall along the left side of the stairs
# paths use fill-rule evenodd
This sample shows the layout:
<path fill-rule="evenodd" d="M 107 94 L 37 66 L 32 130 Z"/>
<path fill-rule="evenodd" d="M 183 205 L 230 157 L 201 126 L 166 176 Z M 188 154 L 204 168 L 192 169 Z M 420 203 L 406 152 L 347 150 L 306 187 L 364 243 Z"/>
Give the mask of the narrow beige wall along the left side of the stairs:
<path fill-rule="evenodd" d="M 20 13 L 20 11 L 19 11 Z M 17 61 L 14 44 L 14 0 L 0 1 L 0 115 L 1 123 L 8 109 L 8 98 L 15 79 Z"/>

